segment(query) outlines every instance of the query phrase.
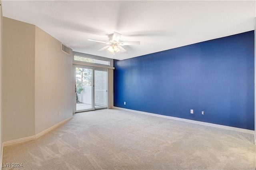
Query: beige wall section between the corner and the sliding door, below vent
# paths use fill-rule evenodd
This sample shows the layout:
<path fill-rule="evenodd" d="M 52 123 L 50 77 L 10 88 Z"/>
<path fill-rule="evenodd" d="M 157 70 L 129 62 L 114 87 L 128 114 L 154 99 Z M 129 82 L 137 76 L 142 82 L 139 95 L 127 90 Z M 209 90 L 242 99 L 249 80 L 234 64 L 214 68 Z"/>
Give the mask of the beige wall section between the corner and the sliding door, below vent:
<path fill-rule="evenodd" d="M 36 26 L 36 134 L 72 116 L 72 55 L 60 49 L 61 42 Z"/>

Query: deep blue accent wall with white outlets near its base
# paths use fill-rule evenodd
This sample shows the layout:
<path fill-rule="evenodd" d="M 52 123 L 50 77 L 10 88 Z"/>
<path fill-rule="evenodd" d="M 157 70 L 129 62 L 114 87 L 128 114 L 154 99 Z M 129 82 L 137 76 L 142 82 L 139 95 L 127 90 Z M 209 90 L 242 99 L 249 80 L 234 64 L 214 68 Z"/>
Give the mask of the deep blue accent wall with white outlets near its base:
<path fill-rule="evenodd" d="M 114 67 L 116 107 L 254 130 L 254 31 Z"/>

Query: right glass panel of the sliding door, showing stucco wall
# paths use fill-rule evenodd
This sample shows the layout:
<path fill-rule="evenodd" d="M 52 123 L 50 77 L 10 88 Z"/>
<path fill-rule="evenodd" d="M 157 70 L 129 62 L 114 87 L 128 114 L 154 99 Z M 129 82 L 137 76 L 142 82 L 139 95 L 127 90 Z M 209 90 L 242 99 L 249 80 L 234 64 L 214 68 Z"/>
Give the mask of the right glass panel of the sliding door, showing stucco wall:
<path fill-rule="evenodd" d="M 95 109 L 108 107 L 108 71 L 94 70 L 94 103 Z"/>

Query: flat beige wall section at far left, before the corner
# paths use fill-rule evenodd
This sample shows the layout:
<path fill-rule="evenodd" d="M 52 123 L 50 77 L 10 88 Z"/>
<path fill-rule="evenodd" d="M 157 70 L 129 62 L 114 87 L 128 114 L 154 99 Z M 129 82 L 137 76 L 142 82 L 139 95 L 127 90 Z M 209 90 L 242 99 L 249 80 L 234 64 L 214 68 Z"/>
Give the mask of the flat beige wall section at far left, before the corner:
<path fill-rule="evenodd" d="M 3 142 L 35 135 L 35 26 L 3 17 Z"/>

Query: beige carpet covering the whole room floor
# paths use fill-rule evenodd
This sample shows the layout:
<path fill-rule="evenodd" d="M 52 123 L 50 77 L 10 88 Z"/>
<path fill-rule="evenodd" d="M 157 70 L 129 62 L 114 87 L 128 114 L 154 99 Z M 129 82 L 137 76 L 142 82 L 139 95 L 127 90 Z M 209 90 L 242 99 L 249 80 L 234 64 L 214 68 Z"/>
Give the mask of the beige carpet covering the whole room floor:
<path fill-rule="evenodd" d="M 4 147 L 3 163 L 22 163 L 17 170 L 255 169 L 255 149 L 253 134 L 105 109 Z"/>

